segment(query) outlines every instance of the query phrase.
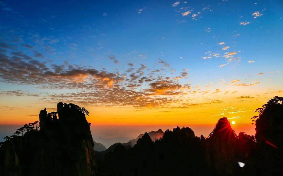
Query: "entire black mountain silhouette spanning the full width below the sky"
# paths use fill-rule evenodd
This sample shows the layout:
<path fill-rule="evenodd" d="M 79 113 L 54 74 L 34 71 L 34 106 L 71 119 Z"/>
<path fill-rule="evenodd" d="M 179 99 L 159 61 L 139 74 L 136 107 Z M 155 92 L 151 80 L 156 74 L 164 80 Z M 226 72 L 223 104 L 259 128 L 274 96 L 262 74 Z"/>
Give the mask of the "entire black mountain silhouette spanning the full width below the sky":
<path fill-rule="evenodd" d="M 255 176 L 283 175 L 283 97 L 268 100 L 252 117 L 256 135 L 231 128 L 220 118 L 209 137 L 190 127 L 151 131 L 136 143 L 115 143 L 94 151 L 85 114 L 75 104 L 58 103 L 57 111 L 39 114 L 0 143 L 1 175 L 97 176 Z M 57 118 L 58 115 L 58 118 Z M 39 125 L 38 125 L 39 124 Z M 157 135 L 162 137 L 156 139 Z M 155 137 L 155 139 L 153 139 Z M 98 144 L 99 145 L 99 144 Z"/>

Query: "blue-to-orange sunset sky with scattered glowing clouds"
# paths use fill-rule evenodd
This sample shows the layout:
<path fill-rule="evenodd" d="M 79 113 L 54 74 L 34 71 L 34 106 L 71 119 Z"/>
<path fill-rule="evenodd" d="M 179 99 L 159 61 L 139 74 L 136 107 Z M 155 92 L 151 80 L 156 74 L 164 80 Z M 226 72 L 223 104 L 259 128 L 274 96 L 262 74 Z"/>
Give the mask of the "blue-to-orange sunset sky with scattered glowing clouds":
<path fill-rule="evenodd" d="M 208 136 L 222 117 L 254 134 L 254 110 L 283 96 L 282 11 L 282 1 L 0 1 L 0 134 L 60 101 L 89 111 L 98 142 L 177 125 Z"/>

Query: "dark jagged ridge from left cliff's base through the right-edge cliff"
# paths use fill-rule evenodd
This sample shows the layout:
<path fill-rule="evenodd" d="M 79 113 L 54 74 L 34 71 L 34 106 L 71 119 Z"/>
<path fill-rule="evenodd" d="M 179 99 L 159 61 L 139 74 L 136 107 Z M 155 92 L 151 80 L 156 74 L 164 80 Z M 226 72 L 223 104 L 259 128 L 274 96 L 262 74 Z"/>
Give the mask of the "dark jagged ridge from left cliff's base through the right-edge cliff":
<path fill-rule="evenodd" d="M 236 135 L 220 118 L 208 138 L 189 127 L 166 130 L 153 142 L 145 133 L 134 147 L 97 152 L 97 175 L 283 175 L 283 97 L 257 109 L 256 136 Z M 255 140 L 256 139 L 256 140 Z"/>

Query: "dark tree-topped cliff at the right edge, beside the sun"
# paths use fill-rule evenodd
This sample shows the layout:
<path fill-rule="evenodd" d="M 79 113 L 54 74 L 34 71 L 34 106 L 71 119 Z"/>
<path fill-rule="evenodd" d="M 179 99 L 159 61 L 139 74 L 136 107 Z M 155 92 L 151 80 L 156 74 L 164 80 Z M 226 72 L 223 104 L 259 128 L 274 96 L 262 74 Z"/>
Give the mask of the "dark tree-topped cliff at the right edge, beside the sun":
<path fill-rule="evenodd" d="M 283 175 L 283 97 L 274 97 L 256 109 L 256 154 L 258 175 Z"/>

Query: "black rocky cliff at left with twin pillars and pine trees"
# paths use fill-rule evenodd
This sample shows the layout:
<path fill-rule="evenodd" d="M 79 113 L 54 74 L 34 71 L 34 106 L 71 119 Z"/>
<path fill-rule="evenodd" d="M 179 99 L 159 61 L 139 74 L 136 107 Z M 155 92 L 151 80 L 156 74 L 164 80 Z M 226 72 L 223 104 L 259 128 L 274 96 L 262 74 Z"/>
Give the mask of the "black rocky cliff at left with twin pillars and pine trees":
<path fill-rule="evenodd" d="M 84 108 L 62 102 L 57 112 L 41 110 L 40 131 L 14 137 L 0 148 L 0 173 L 94 175 L 94 143 L 85 114 Z"/>

